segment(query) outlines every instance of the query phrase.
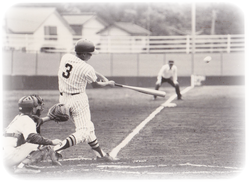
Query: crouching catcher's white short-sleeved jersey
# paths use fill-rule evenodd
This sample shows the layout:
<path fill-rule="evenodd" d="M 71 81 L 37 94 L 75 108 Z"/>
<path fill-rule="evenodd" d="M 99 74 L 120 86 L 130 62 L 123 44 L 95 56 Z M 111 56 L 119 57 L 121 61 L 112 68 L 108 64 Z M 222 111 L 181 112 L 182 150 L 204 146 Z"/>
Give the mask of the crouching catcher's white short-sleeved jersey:
<path fill-rule="evenodd" d="M 23 134 L 24 139 L 26 140 L 30 133 L 36 132 L 36 123 L 29 116 L 24 114 L 17 115 L 11 123 L 5 128 L 6 133 L 15 133 Z M 3 137 L 3 147 L 16 147 L 17 138 L 14 137 Z"/>

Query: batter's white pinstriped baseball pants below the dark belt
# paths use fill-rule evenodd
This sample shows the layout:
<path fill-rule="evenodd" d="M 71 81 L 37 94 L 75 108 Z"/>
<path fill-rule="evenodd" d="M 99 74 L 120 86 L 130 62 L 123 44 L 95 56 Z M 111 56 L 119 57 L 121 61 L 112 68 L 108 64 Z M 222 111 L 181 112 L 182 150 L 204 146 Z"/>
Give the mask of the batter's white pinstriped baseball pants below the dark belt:
<path fill-rule="evenodd" d="M 65 104 L 71 112 L 71 119 L 75 125 L 76 144 L 91 142 L 96 139 L 94 125 L 91 121 L 88 97 L 86 93 L 70 95 L 63 93 L 60 95 L 60 103 Z"/>

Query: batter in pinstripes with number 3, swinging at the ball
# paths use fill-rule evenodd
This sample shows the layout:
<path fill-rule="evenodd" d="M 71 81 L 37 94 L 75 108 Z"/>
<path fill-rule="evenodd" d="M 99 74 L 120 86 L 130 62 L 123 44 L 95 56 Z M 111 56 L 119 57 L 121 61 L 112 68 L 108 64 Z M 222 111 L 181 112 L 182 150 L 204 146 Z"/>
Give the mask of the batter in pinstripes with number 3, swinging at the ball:
<path fill-rule="evenodd" d="M 108 153 L 105 153 L 99 146 L 95 135 L 94 124 L 91 121 L 88 96 L 86 94 L 87 84 L 95 87 L 114 87 L 115 82 L 109 81 L 106 77 L 97 73 L 87 63 L 93 54 L 96 54 L 92 42 L 80 39 L 75 45 L 74 54 L 65 54 L 60 62 L 58 71 L 58 83 L 61 104 L 65 104 L 71 113 L 71 119 L 75 125 L 75 132 L 69 135 L 60 145 L 54 147 L 55 151 L 72 147 L 79 143 L 88 143 L 97 160 L 114 161 Z"/>

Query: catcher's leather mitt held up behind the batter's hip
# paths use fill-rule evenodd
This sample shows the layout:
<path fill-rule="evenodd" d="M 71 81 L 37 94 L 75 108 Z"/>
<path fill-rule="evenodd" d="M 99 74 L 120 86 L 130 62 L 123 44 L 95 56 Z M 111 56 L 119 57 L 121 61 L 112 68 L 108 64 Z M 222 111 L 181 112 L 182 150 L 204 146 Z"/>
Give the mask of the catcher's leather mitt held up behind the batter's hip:
<path fill-rule="evenodd" d="M 55 104 L 49 110 L 47 116 L 56 122 L 67 121 L 70 117 L 69 109 L 64 104 Z"/>

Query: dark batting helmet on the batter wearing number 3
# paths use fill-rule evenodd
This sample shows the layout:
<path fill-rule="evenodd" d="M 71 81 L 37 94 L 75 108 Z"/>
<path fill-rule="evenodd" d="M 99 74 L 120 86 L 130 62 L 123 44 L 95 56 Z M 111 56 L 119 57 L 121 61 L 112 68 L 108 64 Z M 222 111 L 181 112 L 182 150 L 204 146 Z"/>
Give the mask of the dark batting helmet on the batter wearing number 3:
<path fill-rule="evenodd" d="M 91 54 L 98 54 L 98 51 L 95 49 L 94 44 L 87 39 L 80 39 L 76 42 L 75 52 L 76 53 L 88 52 Z"/>

